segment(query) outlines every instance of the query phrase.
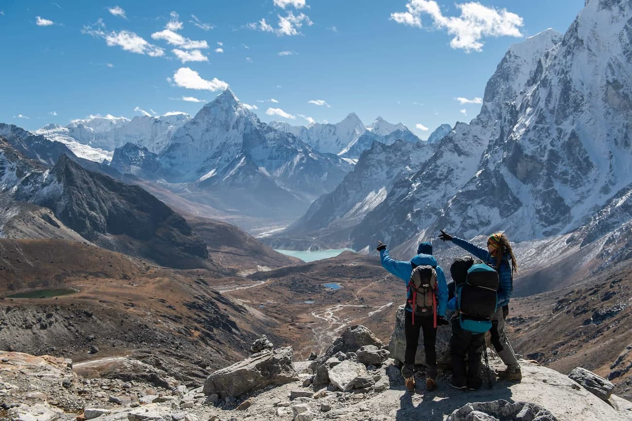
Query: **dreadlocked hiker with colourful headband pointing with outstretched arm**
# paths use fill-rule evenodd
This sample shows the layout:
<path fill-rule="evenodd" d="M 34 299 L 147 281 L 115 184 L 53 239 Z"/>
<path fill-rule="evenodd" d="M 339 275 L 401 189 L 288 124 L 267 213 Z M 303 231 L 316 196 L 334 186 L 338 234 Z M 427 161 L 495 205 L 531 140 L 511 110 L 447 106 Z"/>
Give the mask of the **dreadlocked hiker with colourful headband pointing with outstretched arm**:
<path fill-rule="evenodd" d="M 470 241 L 463 240 L 463 238 L 449 235 L 443 230 L 441 230 L 439 239 L 452 241 L 455 245 L 478 257 L 478 259 L 492 265 L 498 272 L 498 304 L 497 310 L 492 317 L 490 334 L 492 345 L 494 345 L 496 353 L 501 357 L 502 362 L 507 365 L 507 368 L 499 372 L 497 376 L 499 379 L 520 382 L 522 379 L 520 364 L 505 333 L 505 319 L 509 314 L 509 300 L 513 292 L 513 272 L 518 271 L 516 257 L 514 257 L 507 236 L 504 235 L 504 233 L 494 233 L 490 235 L 487 238 L 487 250 L 470 243 Z"/>

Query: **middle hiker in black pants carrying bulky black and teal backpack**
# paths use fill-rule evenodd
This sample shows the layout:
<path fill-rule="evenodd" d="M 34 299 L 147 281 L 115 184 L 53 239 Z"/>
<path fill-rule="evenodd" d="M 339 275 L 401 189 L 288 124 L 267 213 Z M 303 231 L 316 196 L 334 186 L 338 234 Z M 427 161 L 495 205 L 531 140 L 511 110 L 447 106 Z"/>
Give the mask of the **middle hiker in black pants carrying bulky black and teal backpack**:
<path fill-rule="evenodd" d="M 454 260 L 450 274 L 456 286 L 455 296 L 447 303 L 447 309 L 454 311 L 450 386 L 478 390 L 483 383 L 480 355 L 485 346 L 485 333 L 492 327 L 496 312 L 498 274 L 487 264 L 475 264 L 471 256 Z"/>

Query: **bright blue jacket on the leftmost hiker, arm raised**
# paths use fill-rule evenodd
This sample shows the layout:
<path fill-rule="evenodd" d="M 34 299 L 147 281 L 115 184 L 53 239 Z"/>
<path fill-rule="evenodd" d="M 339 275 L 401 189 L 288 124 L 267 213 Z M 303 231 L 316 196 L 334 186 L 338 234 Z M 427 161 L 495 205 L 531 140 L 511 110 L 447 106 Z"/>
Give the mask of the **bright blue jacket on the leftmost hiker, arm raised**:
<path fill-rule="evenodd" d="M 382 267 L 387 271 L 391 272 L 395 276 L 400 279 L 403 279 L 404 284 L 408 287 L 408 281 L 410 281 L 410 275 L 413 272 L 414 264 L 421 265 L 430 265 L 435 266 L 435 271 L 437 272 L 437 317 L 444 317 L 446 315 L 446 305 L 447 305 L 447 283 L 446 283 L 446 275 L 441 269 L 441 266 L 437 265 L 437 259 L 434 258 L 433 255 L 430 254 L 418 254 L 410 262 L 406 262 L 403 260 L 395 260 L 391 259 L 389 256 L 389 251 L 384 248 L 380 250 L 380 260 L 382 261 Z M 406 296 L 406 300 L 411 299 L 411 293 L 408 293 Z M 412 310 L 410 308 L 406 308 L 409 312 Z"/>

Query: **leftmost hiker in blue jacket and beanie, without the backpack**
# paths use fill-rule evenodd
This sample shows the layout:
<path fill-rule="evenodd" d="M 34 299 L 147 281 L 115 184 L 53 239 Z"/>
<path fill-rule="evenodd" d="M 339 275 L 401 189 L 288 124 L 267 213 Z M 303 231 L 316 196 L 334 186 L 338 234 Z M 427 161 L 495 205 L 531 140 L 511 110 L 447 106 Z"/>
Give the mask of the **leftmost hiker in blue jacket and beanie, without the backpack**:
<path fill-rule="evenodd" d="M 447 305 L 447 284 L 446 275 L 437 265 L 437 260 L 432 255 L 432 244 L 420 243 L 417 247 L 417 254 L 410 261 L 402 261 L 391 259 L 386 244 L 379 241 L 377 251 L 380 252 L 380 260 L 382 267 L 391 272 L 408 286 L 413 269 L 417 266 L 430 265 L 435 268 L 437 273 L 437 305 L 434 308 L 435 313 L 432 315 L 413 315 L 411 308 L 412 291 L 408 290 L 406 296 L 406 318 L 404 320 L 404 333 L 406 334 L 406 352 L 404 355 L 404 365 L 401 374 L 406 379 L 406 389 L 408 391 L 415 390 L 415 355 L 417 353 L 417 343 L 419 341 L 419 329 L 423 331 L 423 349 L 426 354 L 426 389 L 434 390 L 437 387 L 437 351 L 435 342 L 437 340 L 437 326 L 447 325 L 445 319 Z M 436 322 L 435 322 L 436 317 Z"/>

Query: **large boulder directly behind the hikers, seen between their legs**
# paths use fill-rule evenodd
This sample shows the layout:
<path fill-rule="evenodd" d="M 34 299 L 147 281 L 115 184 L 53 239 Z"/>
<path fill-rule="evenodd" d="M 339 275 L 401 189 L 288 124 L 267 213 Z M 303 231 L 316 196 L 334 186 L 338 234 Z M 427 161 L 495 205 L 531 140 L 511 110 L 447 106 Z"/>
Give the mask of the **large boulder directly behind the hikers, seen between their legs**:
<path fill-rule="evenodd" d="M 395 360 L 396 364 L 404 362 L 404 355 L 406 353 L 406 334 L 404 334 L 405 311 L 404 306 L 400 305 L 395 314 L 395 329 L 389 341 L 391 358 Z M 437 364 L 442 367 L 449 367 L 450 365 L 450 336 L 452 336 L 452 329 L 449 326 L 439 326 L 439 329 L 437 329 L 436 343 Z M 415 365 L 425 365 L 425 363 L 426 353 L 423 350 L 423 334 L 420 333 L 417 353 L 415 354 Z"/>

